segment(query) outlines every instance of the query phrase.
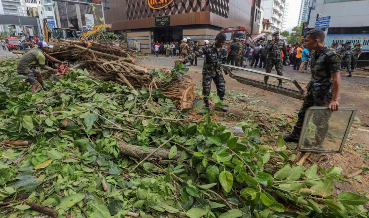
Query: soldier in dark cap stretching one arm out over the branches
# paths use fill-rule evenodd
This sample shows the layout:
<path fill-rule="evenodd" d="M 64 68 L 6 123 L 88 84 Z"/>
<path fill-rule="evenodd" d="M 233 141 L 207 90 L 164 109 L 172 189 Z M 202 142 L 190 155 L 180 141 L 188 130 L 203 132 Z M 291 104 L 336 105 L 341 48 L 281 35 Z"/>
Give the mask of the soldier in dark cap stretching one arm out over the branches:
<path fill-rule="evenodd" d="M 209 108 L 211 80 L 214 80 L 220 100 L 224 99 L 225 80 L 220 65 L 227 62 L 228 52 L 227 47 L 224 46 L 226 39 L 227 36 L 224 33 L 218 33 L 214 44 L 201 47 L 198 51 L 189 54 L 184 59 L 175 61 L 187 63 L 195 59 L 195 57 L 205 55 L 205 62 L 202 67 L 202 95 L 204 96 L 204 103 L 207 108 Z M 227 108 L 223 107 L 222 110 L 227 111 Z"/>

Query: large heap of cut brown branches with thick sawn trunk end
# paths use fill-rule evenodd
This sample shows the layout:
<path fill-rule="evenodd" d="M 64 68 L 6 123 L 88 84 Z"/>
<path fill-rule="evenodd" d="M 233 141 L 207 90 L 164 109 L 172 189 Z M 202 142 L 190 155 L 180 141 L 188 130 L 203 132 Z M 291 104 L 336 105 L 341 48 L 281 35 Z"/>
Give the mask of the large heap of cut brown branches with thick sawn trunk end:
<path fill-rule="evenodd" d="M 150 92 L 160 89 L 179 108 L 192 106 L 195 98 L 194 84 L 189 76 L 183 75 L 187 68 L 176 66 L 174 70 L 165 70 L 164 73 L 155 69 L 148 70 L 138 64 L 136 51 L 114 41 L 60 39 L 53 46 L 50 50 L 52 57 L 77 64 L 75 68 L 85 68 L 95 78 L 120 82 L 132 89 L 145 87 Z"/>

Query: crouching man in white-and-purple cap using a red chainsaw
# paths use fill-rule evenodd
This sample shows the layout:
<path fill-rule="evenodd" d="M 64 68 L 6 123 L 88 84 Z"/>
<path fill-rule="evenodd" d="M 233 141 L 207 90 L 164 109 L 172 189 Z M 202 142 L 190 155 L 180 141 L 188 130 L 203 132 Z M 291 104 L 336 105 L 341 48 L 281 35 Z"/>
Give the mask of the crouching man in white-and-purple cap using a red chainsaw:
<path fill-rule="evenodd" d="M 40 41 L 38 42 L 37 46 L 38 47 L 34 47 L 27 53 L 25 53 L 20 58 L 17 65 L 18 75 L 28 77 L 26 81 L 31 83 L 32 85 L 30 90 L 31 92 L 34 92 L 37 89 L 38 84 L 44 87 L 41 73 L 36 70 L 37 65 L 39 65 L 41 69 L 57 73 L 58 70 L 45 65 L 46 58 L 50 59 L 53 62 L 66 63 L 61 62 L 48 54 L 45 54 L 45 52 L 48 52 L 49 49 L 53 47 L 50 46 L 49 43 Z"/>

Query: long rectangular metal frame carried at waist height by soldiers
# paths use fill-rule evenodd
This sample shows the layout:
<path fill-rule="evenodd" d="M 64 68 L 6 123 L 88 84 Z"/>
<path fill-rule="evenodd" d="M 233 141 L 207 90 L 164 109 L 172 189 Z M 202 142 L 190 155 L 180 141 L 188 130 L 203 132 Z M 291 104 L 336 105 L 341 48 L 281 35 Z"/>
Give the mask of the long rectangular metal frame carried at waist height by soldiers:
<path fill-rule="evenodd" d="M 225 74 L 228 74 L 231 78 L 234 78 L 238 82 L 243 83 L 245 85 L 251 85 L 251 86 L 254 86 L 254 87 L 259 88 L 259 89 L 264 89 L 264 90 L 267 90 L 267 91 L 273 92 L 273 93 L 283 94 L 283 95 L 293 97 L 293 98 L 297 98 L 297 99 L 300 99 L 300 100 L 303 100 L 305 98 L 305 95 L 302 94 L 303 89 L 301 88 L 300 84 L 292 78 L 283 77 L 283 76 L 274 75 L 274 74 L 268 74 L 268 73 L 261 72 L 261 71 L 258 71 L 258 70 L 252 70 L 252 69 L 243 68 L 243 67 L 236 67 L 236 66 L 232 66 L 232 65 L 228 65 L 228 64 L 222 64 L 221 68 L 224 70 Z M 268 83 L 265 83 L 265 82 L 257 81 L 257 80 L 250 79 L 250 78 L 239 77 L 239 76 L 236 76 L 234 73 L 232 73 L 231 69 L 244 70 L 244 71 L 256 73 L 256 74 L 259 74 L 259 75 L 264 75 L 264 76 L 267 76 L 267 77 L 273 77 L 273 78 L 278 78 L 278 79 L 282 79 L 282 80 L 291 81 L 296 86 L 297 91 L 293 90 L 293 89 L 288 89 L 288 88 L 285 88 L 285 87 L 279 87 L 279 86 L 276 86 L 276 85 L 272 85 L 272 84 L 268 84 Z"/>

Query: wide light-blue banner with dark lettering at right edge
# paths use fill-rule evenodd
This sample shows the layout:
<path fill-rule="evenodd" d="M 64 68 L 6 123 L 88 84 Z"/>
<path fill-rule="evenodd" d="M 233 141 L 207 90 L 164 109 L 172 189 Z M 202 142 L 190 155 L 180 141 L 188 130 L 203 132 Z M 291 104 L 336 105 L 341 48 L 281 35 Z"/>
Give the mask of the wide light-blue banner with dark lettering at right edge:
<path fill-rule="evenodd" d="M 360 43 L 362 45 L 361 49 L 369 52 L 369 34 L 328 34 L 326 39 L 325 44 L 327 45 L 332 45 L 332 43 L 342 45 L 347 42 L 351 42 L 351 45 Z"/>

